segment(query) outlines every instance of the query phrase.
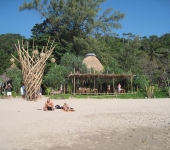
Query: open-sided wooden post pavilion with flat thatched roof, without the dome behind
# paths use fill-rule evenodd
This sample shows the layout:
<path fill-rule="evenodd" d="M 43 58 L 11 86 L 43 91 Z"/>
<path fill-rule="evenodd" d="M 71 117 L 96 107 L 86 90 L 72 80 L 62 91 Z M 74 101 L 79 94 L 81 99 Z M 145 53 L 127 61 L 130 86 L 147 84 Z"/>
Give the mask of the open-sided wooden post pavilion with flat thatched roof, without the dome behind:
<path fill-rule="evenodd" d="M 73 88 L 73 93 L 74 94 L 78 94 L 78 93 L 84 93 L 84 94 L 90 94 L 90 93 L 98 93 L 98 89 L 96 89 L 95 86 L 95 80 L 97 78 L 103 78 L 103 79 L 107 79 L 109 81 L 112 81 L 112 87 L 113 87 L 113 93 L 115 93 L 115 79 L 129 79 L 130 80 L 130 88 L 131 91 L 133 92 L 133 88 L 132 88 L 132 78 L 133 78 L 133 74 L 81 74 L 81 73 L 71 73 L 68 78 L 72 78 L 73 79 L 73 84 L 74 84 L 74 88 Z M 94 81 L 94 88 L 90 91 L 89 88 L 81 88 L 79 90 L 76 90 L 76 80 L 77 79 L 93 79 Z M 112 94 L 113 94 L 112 93 Z M 122 90 L 122 93 L 125 93 L 125 90 Z"/>

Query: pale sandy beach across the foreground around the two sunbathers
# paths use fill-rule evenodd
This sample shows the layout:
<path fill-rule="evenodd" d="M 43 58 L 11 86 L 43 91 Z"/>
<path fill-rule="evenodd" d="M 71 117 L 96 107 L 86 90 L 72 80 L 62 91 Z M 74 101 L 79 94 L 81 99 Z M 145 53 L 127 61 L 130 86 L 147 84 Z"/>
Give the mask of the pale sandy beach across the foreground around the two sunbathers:
<path fill-rule="evenodd" d="M 0 150 L 169 150 L 170 99 L 0 99 Z"/>

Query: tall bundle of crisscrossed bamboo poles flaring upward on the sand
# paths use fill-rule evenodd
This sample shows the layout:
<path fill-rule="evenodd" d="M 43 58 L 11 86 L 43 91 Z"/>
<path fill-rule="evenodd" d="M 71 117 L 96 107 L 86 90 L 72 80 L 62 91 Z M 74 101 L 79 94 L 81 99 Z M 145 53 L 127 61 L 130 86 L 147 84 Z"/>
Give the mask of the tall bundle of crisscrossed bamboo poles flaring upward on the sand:
<path fill-rule="evenodd" d="M 26 89 L 26 95 L 25 95 L 26 100 L 36 101 L 38 98 L 38 93 L 42 83 L 42 77 L 43 77 L 46 61 L 50 57 L 50 55 L 53 52 L 53 49 L 56 46 L 56 45 L 53 46 L 54 44 L 54 40 L 53 40 L 51 46 L 49 47 L 48 46 L 49 41 L 50 38 L 47 42 L 47 45 L 42 48 L 40 54 L 37 46 L 34 47 L 34 41 L 33 41 L 32 53 L 30 53 L 30 51 L 28 50 L 28 42 L 26 43 L 27 46 L 26 50 L 24 48 L 23 41 L 21 45 L 19 41 L 18 41 L 18 45 L 15 44 L 15 47 L 18 52 L 19 60 L 13 55 L 12 56 L 21 64 L 23 82 Z"/>

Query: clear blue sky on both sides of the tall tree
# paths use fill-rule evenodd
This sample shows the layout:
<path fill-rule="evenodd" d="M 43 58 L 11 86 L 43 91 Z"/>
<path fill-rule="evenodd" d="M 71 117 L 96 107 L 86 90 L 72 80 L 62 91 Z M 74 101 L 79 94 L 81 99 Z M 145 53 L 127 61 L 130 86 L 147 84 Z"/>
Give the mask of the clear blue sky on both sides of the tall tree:
<path fill-rule="evenodd" d="M 14 33 L 30 38 L 31 29 L 44 19 L 34 10 L 19 11 L 19 6 L 31 0 L 0 0 L 0 34 Z M 125 14 L 122 28 L 113 32 L 161 37 L 170 33 L 170 0 L 106 0 L 101 11 L 113 8 Z"/>

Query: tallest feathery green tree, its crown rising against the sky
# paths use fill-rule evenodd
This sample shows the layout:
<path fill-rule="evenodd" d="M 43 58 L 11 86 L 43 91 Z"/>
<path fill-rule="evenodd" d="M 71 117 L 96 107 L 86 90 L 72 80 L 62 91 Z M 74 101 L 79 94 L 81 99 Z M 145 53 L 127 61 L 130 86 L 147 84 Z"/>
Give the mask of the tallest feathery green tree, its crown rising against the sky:
<path fill-rule="evenodd" d="M 105 0 L 33 0 L 24 3 L 19 10 L 36 10 L 46 19 L 46 30 L 52 31 L 62 45 L 72 46 L 74 54 L 79 54 L 74 38 L 84 39 L 93 33 L 108 34 L 112 29 L 121 28 L 119 21 L 124 14 L 108 8 L 101 16 L 100 4 Z M 50 26 L 49 26 L 50 25 Z M 79 42 L 77 40 L 77 42 Z"/>

